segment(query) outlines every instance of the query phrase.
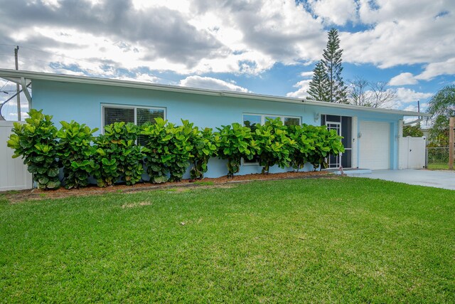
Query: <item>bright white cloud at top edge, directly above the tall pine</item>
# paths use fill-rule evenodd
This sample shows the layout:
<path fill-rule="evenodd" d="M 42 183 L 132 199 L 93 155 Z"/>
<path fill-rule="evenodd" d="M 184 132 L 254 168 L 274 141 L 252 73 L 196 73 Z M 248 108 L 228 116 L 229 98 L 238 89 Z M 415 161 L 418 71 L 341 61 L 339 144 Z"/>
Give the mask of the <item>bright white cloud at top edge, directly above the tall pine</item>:
<path fill-rule="evenodd" d="M 309 5 L 326 23 L 343 26 L 356 19 L 357 4 L 353 0 L 309 0 Z"/>

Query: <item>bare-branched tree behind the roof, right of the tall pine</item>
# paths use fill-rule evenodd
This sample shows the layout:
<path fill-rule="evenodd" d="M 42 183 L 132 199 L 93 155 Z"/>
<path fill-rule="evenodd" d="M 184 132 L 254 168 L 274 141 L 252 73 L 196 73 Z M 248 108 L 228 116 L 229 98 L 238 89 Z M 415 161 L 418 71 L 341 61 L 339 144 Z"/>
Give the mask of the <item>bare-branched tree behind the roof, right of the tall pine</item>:
<path fill-rule="evenodd" d="M 377 83 L 356 77 L 349 81 L 348 102 L 351 105 L 379 108 L 397 98 L 395 90 L 387 88 L 388 83 Z"/>

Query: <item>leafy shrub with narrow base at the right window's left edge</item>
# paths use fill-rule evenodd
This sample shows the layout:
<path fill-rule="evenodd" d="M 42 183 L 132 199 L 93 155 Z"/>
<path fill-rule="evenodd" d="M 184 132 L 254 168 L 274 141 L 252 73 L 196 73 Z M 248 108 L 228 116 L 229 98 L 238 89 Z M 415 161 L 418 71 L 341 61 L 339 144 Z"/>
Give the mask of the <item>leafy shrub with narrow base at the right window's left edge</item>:
<path fill-rule="evenodd" d="M 218 157 L 228 159 L 228 177 L 233 177 L 240 170 L 242 158 L 252 159 L 255 155 L 255 150 L 251 150 L 250 128 L 234 122 L 217 129 L 213 136 L 219 143 Z"/>

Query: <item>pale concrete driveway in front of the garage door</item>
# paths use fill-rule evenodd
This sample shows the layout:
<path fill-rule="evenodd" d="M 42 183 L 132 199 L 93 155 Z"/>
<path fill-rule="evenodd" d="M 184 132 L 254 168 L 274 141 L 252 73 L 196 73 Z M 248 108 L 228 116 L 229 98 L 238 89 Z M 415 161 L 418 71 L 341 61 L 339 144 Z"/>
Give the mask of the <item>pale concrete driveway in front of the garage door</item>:
<path fill-rule="evenodd" d="M 455 171 L 373 170 L 370 174 L 360 174 L 359 177 L 455 190 Z"/>

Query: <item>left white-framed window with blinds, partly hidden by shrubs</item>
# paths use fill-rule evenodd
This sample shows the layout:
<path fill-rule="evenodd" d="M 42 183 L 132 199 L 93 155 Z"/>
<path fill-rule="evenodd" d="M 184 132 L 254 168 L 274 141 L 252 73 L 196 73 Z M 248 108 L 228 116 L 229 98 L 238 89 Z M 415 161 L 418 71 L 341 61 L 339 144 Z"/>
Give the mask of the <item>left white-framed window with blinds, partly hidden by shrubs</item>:
<path fill-rule="evenodd" d="M 155 122 L 155 118 L 165 119 L 165 108 L 137 107 L 129 105 L 102 105 L 102 131 L 105 126 L 114 122 L 133 122 L 136 125 L 144 125 L 146 122 Z M 143 140 L 138 137 L 138 144 Z"/>

